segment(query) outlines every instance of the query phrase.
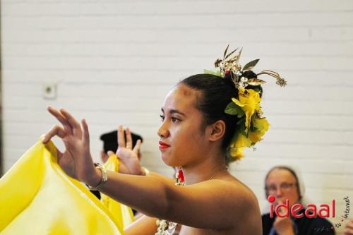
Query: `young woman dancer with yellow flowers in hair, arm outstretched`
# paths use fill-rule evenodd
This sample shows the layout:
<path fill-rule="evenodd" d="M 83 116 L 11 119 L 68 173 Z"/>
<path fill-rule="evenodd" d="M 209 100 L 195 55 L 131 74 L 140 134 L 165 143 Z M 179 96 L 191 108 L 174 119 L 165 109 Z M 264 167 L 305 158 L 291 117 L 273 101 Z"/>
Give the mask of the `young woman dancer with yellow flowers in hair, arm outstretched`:
<path fill-rule="evenodd" d="M 179 234 L 261 234 L 256 196 L 229 174 L 227 164 L 267 131 L 259 106 L 262 90 L 253 86 L 263 81 L 252 78 L 253 66 L 227 66 L 239 65 L 239 54 L 228 57 L 234 61 L 226 60 L 227 53 L 217 60 L 220 74 L 181 80 L 162 104 L 157 131 L 161 157 L 182 169 L 179 184 L 185 186 L 155 174 L 136 176 L 95 167 L 85 119 L 79 123 L 64 109 L 48 108 L 62 126 L 53 126 L 43 143 L 54 135 L 63 140 L 66 150 L 58 154 L 66 174 L 149 216 L 138 219 L 126 234 L 155 234 L 155 219 L 150 217 L 162 219 L 157 234 L 173 234 L 176 224 L 181 224 Z M 120 146 L 133 155 L 129 133 L 125 141 L 121 126 Z"/>

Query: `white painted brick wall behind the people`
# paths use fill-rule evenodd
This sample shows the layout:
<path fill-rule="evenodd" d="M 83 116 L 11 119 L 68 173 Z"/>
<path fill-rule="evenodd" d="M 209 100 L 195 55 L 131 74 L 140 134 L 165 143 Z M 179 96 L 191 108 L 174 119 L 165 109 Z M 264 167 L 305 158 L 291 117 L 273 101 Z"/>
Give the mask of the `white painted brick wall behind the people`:
<path fill-rule="evenodd" d="M 1 4 L 6 170 L 55 123 L 46 112 L 52 105 L 88 119 L 97 156 L 100 133 L 131 126 L 145 138 L 145 166 L 170 174 L 157 150 L 164 95 L 181 78 L 213 68 L 230 43 L 244 47 L 243 63 L 261 58 L 258 70 L 288 80 L 285 89 L 265 86 L 270 131 L 256 152 L 232 165 L 234 175 L 263 207 L 265 172 L 295 165 L 313 203 L 336 199 L 333 222 L 342 198 L 353 198 L 353 1 Z M 57 83 L 56 100 L 42 98 L 47 82 Z"/>

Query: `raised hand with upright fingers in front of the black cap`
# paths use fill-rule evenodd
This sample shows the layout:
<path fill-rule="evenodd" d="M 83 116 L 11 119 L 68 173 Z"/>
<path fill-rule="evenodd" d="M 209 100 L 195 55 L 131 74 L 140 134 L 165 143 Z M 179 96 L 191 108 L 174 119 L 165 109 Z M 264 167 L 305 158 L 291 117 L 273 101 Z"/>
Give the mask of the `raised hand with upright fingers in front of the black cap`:
<path fill-rule="evenodd" d="M 123 174 L 144 174 L 143 169 L 140 166 L 140 146 L 141 140 L 137 140 L 136 145 L 133 147 L 133 141 L 131 138 L 131 131 L 126 128 L 126 140 L 124 136 L 123 126 L 118 127 L 118 149 L 116 150 L 116 156 L 119 158 L 119 172 Z M 113 152 L 109 151 L 108 155 L 112 155 Z"/>

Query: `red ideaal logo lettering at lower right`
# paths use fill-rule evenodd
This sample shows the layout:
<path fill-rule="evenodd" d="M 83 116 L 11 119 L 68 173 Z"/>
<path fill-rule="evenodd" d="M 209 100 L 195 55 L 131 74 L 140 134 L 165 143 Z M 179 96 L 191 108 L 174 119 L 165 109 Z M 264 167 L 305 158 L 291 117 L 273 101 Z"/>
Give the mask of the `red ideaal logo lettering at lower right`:
<path fill-rule="evenodd" d="M 321 204 L 318 207 L 316 207 L 315 204 L 308 204 L 305 207 L 304 212 L 300 212 L 304 209 L 304 205 L 301 205 L 299 203 L 296 203 L 292 205 L 289 208 L 289 200 L 286 199 L 285 203 L 279 203 L 276 205 L 275 208 L 273 208 L 273 203 L 275 202 L 276 198 L 274 195 L 269 195 L 268 196 L 268 202 L 270 203 L 270 217 L 273 218 L 273 212 L 277 215 L 277 217 L 289 217 L 289 212 L 290 215 L 294 218 L 301 218 L 301 217 L 307 217 L 307 218 L 316 218 L 316 217 L 321 217 L 321 218 L 328 218 L 330 217 L 335 217 L 335 199 L 331 201 L 331 205 L 328 205 L 327 203 Z M 281 209 L 286 209 L 285 213 L 282 215 L 280 213 Z M 299 212 L 299 213 L 298 213 Z"/>

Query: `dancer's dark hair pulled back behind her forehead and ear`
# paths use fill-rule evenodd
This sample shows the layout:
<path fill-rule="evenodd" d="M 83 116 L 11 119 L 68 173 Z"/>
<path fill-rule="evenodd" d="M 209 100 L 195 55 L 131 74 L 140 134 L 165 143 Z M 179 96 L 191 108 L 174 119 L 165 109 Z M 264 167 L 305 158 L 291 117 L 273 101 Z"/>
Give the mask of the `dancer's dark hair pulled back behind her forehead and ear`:
<path fill-rule="evenodd" d="M 196 108 L 203 113 L 205 126 L 215 121 L 225 121 L 225 136 L 222 148 L 227 149 L 237 128 L 237 116 L 225 113 L 225 108 L 232 97 L 238 97 L 238 90 L 229 78 L 221 78 L 212 74 L 196 74 L 181 80 L 179 84 L 200 91 Z"/>

